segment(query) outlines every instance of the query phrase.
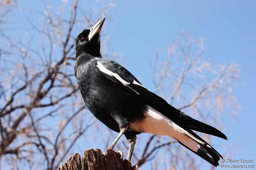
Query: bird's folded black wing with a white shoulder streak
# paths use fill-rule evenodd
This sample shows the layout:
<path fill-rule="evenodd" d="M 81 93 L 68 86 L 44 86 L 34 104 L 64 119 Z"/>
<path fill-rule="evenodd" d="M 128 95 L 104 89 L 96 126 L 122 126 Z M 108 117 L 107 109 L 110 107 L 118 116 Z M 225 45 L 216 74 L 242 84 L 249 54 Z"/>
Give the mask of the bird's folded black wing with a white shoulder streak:
<path fill-rule="evenodd" d="M 98 58 L 98 62 L 100 62 L 100 64 L 102 64 L 102 66 L 107 71 L 110 71 L 118 76 L 116 78 L 115 75 L 110 75 L 111 73 L 109 74 L 101 70 L 101 72 L 109 80 L 117 83 L 118 85 L 123 87 L 124 90 L 128 90 L 129 92 L 133 93 L 142 100 L 145 100 L 151 107 L 161 112 L 164 116 L 168 117 L 170 120 L 175 122 L 183 129 L 196 130 L 209 135 L 221 137 L 226 140 L 228 139 L 218 129 L 193 119 L 192 117 L 186 115 L 185 113 L 181 112 L 175 107 L 169 105 L 163 98 L 148 91 L 148 89 L 144 87 L 139 82 L 139 80 L 137 80 L 137 78 L 135 78 L 128 70 L 126 70 L 120 64 L 106 58 Z"/>

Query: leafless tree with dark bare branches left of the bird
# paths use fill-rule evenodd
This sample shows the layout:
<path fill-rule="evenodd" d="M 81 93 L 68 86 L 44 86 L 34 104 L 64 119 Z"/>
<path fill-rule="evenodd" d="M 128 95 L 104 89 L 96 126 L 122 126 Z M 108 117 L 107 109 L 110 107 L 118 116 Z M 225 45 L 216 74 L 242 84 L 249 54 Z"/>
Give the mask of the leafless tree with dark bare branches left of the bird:
<path fill-rule="evenodd" d="M 95 122 L 87 116 L 74 77 L 76 35 L 108 15 L 115 5 L 102 3 L 100 11 L 93 12 L 95 9 L 88 7 L 84 10 L 85 4 L 78 0 L 63 1 L 56 10 L 43 1 L 44 11 L 36 11 L 19 9 L 12 1 L 4 3 L 0 30 L 4 42 L 0 60 L 1 166 L 19 169 L 25 162 L 31 169 L 56 169 Z M 30 24 L 23 32 L 12 28 L 17 10 L 40 18 L 37 22 L 23 18 Z M 27 39 L 19 40 L 12 29 L 25 33 Z"/>

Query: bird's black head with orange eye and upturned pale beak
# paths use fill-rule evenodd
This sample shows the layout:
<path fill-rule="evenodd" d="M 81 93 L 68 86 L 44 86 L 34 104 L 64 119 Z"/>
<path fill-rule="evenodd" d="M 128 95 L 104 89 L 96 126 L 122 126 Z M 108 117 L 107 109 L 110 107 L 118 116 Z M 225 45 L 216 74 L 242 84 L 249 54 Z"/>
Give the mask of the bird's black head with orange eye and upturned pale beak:
<path fill-rule="evenodd" d="M 87 53 L 94 57 L 100 57 L 100 30 L 105 21 L 102 18 L 91 29 L 85 29 L 76 37 L 76 58 L 82 54 Z"/>

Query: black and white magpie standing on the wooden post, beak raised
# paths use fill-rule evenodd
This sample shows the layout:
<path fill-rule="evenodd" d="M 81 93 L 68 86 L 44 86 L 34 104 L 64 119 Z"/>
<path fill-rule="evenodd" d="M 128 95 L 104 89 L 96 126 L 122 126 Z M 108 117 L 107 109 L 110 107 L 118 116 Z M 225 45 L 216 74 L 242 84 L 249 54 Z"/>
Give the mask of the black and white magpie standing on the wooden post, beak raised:
<path fill-rule="evenodd" d="M 124 134 L 129 143 L 127 159 L 131 161 L 136 135 L 168 135 L 214 166 L 222 156 L 195 131 L 227 137 L 169 105 L 147 90 L 128 70 L 100 55 L 102 18 L 76 38 L 75 76 L 87 108 L 108 128 L 119 132 L 110 149 Z"/>

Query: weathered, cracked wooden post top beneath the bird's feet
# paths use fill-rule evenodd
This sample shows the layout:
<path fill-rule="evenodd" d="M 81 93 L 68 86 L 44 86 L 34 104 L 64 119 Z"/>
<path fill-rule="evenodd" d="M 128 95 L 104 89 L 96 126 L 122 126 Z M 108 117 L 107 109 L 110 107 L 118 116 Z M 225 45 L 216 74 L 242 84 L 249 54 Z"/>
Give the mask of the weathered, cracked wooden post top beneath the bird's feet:
<path fill-rule="evenodd" d="M 79 153 L 72 155 L 58 170 L 135 170 L 127 159 L 111 149 L 104 154 L 100 149 L 88 149 L 81 158 Z"/>

